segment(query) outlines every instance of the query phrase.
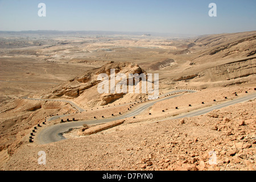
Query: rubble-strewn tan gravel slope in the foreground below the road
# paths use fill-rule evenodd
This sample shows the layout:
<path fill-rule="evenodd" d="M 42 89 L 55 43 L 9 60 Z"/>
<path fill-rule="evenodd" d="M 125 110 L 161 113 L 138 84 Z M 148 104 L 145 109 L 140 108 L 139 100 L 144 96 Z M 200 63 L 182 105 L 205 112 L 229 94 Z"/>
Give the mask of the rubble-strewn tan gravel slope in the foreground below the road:
<path fill-rule="evenodd" d="M 1 169 L 255 170 L 255 108 L 250 101 L 192 118 L 129 118 L 87 137 L 24 144 L 11 156 L 1 151 Z M 38 164 L 39 151 L 46 152 L 46 165 Z"/>

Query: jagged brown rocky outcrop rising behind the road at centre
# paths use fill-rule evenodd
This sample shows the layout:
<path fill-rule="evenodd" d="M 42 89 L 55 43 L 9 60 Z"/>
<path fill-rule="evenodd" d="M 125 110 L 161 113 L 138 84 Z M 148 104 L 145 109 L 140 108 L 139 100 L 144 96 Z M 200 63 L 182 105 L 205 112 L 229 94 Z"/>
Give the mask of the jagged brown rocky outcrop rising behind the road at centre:
<path fill-rule="evenodd" d="M 110 80 L 110 69 L 115 69 L 115 75 L 124 73 L 127 76 L 127 82 L 129 73 L 138 73 L 139 75 L 141 73 L 146 73 L 137 64 L 114 63 L 112 61 L 101 68 L 87 72 L 84 76 L 75 77 L 64 84 L 52 87 L 49 90 L 42 90 L 42 92 L 37 93 L 33 97 L 72 99 L 81 106 L 93 107 L 106 105 L 121 98 L 122 101 L 130 101 L 131 99 L 135 100 L 136 98 L 144 98 L 146 96 L 146 94 L 98 93 L 98 84 L 101 82 L 101 80 L 97 80 L 98 75 L 106 73 Z M 118 81 L 115 81 L 115 85 L 116 84 L 118 84 Z"/>

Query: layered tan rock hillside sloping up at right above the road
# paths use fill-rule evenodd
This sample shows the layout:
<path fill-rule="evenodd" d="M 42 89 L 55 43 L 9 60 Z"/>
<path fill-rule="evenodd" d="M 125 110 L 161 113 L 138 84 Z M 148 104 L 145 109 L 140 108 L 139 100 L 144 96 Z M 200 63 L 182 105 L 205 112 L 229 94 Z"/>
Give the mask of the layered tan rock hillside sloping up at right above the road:
<path fill-rule="evenodd" d="M 191 60 L 174 69 L 176 86 L 202 89 L 256 83 L 256 31 L 201 36 L 194 43 Z"/>

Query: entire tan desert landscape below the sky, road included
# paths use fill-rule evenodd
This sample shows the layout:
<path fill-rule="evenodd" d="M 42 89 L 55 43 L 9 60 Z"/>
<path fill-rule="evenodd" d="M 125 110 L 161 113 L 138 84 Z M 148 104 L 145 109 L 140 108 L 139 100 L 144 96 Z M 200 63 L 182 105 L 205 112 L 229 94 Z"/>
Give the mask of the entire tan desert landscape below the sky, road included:
<path fill-rule="evenodd" d="M 99 93 L 111 69 L 158 98 Z M 256 31 L 1 31 L 0 103 L 2 171 L 255 171 Z"/>

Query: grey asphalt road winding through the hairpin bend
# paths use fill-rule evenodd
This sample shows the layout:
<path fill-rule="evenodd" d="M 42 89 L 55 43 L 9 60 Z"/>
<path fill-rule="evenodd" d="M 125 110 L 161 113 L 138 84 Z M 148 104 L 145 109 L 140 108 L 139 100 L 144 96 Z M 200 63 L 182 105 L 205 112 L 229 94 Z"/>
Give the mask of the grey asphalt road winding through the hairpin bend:
<path fill-rule="evenodd" d="M 193 93 L 193 92 L 196 92 L 196 91 L 195 90 L 175 90 L 175 91 L 169 92 L 167 94 L 179 93 L 179 92 L 191 92 L 191 93 Z M 98 120 L 94 119 L 94 120 L 89 120 L 89 121 L 67 122 L 67 123 L 59 123 L 59 124 L 56 124 L 56 125 L 52 125 L 52 126 L 46 127 L 42 131 L 40 131 L 40 133 L 37 135 L 36 138 L 37 138 L 37 141 L 38 141 L 39 144 L 47 144 L 47 143 L 57 142 L 57 141 L 65 139 L 62 136 L 61 133 L 64 133 L 65 131 L 68 131 L 69 129 L 81 127 L 84 124 L 97 125 L 97 124 L 100 124 L 100 123 L 116 121 L 118 119 L 125 119 L 125 118 L 129 118 L 129 117 L 134 117 L 134 116 L 142 113 L 148 107 L 154 105 L 156 102 L 171 99 L 171 98 L 178 97 L 178 96 L 181 96 L 181 94 L 177 94 L 177 95 L 174 95 L 174 96 L 168 96 L 168 97 L 162 96 L 162 98 L 159 98 L 158 100 L 148 101 L 147 103 L 141 104 L 141 107 L 139 107 L 138 109 L 133 110 L 133 111 L 131 111 L 129 113 L 126 113 L 126 114 L 123 114 L 123 115 L 119 115 L 118 117 L 98 119 Z M 245 96 L 245 97 L 237 98 L 235 100 L 223 102 L 222 104 L 217 104 L 217 105 L 205 107 L 203 109 L 194 110 L 194 111 L 191 111 L 189 113 L 180 114 L 176 117 L 165 118 L 165 119 L 162 119 L 160 121 L 165 121 L 167 119 L 183 118 L 183 117 L 193 117 L 193 116 L 196 116 L 196 115 L 201 115 L 201 114 L 208 113 L 209 111 L 212 111 L 214 109 L 221 109 L 222 107 L 226 107 L 226 106 L 233 105 L 233 104 L 238 104 L 238 103 L 241 103 L 241 102 L 246 102 L 246 101 L 249 101 L 249 100 L 253 100 L 255 98 L 256 98 L 256 93 L 253 93 L 253 94 L 249 94 L 248 96 Z M 67 115 L 59 115 L 59 116 L 51 117 L 49 119 L 53 120 L 53 119 L 64 117 L 64 116 L 67 116 Z"/>

